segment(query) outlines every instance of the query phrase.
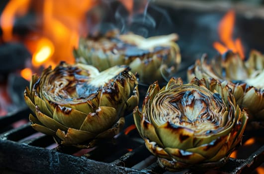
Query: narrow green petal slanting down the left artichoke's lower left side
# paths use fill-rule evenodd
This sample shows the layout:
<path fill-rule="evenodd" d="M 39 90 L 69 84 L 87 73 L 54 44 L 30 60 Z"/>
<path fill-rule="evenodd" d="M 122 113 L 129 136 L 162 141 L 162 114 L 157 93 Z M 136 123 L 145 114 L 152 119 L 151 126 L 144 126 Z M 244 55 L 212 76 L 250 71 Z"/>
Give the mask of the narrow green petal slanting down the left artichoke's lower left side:
<path fill-rule="evenodd" d="M 51 130 L 57 131 L 57 129 L 61 129 L 61 130 L 66 131 L 68 129 L 68 127 L 62 125 L 61 123 L 57 122 L 56 120 L 54 120 L 54 119 L 50 118 L 49 116 L 40 112 L 38 106 L 36 106 L 36 108 L 35 108 L 35 113 L 36 113 L 38 120 L 43 125 L 50 128 Z"/>

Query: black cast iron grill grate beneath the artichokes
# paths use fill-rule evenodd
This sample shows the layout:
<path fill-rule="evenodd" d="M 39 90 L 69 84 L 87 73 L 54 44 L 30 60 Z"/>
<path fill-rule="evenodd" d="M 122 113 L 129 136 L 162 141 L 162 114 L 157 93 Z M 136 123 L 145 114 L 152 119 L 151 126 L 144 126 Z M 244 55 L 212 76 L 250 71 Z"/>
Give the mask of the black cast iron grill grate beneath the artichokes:
<path fill-rule="evenodd" d="M 80 150 L 54 144 L 51 136 L 36 132 L 30 123 L 13 128 L 17 120 L 27 119 L 30 111 L 0 117 L 0 169 L 27 174 L 163 174 L 168 173 L 158 166 L 156 158 L 148 152 L 136 130 L 122 132 L 110 142 L 102 142 L 96 148 Z M 133 124 L 131 115 L 127 125 Z M 263 130 L 248 131 L 243 142 L 261 137 Z M 263 141 L 263 140 L 262 140 Z M 264 163 L 264 145 L 243 159 L 230 158 L 215 173 L 249 174 Z M 248 150 L 247 150 L 248 151 Z M 179 173 L 196 173 L 181 171 Z"/>

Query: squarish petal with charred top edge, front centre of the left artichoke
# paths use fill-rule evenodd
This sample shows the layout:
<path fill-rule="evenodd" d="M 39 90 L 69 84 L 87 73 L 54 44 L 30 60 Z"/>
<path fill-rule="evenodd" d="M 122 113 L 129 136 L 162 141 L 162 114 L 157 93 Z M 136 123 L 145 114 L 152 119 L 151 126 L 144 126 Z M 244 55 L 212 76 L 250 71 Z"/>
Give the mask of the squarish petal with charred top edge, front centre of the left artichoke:
<path fill-rule="evenodd" d="M 53 119 L 74 129 L 80 129 L 87 114 L 69 107 L 58 105 L 53 112 Z"/>

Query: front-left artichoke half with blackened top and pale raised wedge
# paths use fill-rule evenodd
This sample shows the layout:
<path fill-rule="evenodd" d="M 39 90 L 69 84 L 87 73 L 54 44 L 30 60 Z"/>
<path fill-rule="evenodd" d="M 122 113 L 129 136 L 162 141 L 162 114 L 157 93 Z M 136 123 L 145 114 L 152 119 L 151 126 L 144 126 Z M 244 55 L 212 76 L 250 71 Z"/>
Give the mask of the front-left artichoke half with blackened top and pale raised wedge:
<path fill-rule="evenodd" d="M 61 62 L 33 75 L 24 91 L 36 115 L 29 116 L 31 126 L 59 144 L 92 147 L 95 140 L 119 133 L 123 115 L 138 105 L 137 83 L 126 66 L 99 73 L 89 65 Z"/>

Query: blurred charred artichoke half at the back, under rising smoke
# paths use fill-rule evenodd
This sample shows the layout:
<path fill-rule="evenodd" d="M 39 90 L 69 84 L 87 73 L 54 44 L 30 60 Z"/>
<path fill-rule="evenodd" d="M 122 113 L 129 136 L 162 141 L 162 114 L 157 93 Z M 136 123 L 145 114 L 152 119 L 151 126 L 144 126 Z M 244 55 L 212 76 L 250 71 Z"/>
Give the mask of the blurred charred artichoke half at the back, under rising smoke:
<path fill-rule="evenodd" d="M 76 62 L 92 65 L 103 71 L 115 65 L 128 65 L 139 74 L 142 84 L 166 82 L 180 63 L 176 34 L 144 38 L 136 34 L 119 35 L 110 31 L 104 36 L 80 39 L 74 50 Z"/>

